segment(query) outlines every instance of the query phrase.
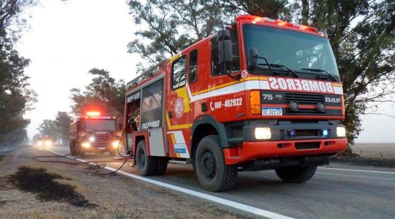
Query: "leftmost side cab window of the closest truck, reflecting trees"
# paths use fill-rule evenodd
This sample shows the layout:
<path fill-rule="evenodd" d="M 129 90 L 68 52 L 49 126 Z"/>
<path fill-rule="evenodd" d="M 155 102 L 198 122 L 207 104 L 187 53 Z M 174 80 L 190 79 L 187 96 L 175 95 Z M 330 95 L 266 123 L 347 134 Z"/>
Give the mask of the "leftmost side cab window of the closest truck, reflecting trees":
<path fill-rule="evenodd" d="M 171 87 L 177 89 L 187 81 L 187 56 L 182 56 L 173 62 L 171 67 Z"/>

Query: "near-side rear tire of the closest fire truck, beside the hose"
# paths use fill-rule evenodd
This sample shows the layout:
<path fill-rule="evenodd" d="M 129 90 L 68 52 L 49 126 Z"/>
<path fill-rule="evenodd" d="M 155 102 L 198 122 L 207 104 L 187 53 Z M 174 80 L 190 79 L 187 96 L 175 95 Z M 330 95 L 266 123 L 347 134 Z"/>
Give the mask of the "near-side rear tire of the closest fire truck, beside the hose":
<path fill-rule="evenodd" d="M 147 155 L 146 142 L 139 141 L 136 150 L 136 163 L 140 175 L 149 176 L 156 173 L 156 159 Z"/>

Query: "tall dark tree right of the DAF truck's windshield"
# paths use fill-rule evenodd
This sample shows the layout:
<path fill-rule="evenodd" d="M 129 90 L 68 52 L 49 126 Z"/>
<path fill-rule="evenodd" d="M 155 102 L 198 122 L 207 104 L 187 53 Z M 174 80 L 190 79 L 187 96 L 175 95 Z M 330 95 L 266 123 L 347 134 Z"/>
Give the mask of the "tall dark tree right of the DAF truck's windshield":
<path fill-rule="evenodd" d="M 395 102 L 390 98 L 395 94 L 395 1 L 306 0 L 298 7 L 297 21 L 330 39 L 343 83 L 347 139 L 353 144 L 361 131 L 359 115 L 378 103 Z"/>

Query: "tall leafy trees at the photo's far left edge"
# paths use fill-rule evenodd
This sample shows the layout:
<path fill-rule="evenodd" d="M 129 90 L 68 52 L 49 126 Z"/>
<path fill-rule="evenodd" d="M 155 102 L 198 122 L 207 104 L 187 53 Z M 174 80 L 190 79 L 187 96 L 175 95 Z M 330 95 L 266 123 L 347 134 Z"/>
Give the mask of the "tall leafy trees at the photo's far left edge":
<path fill-rule="evenodd" d="M 27 137 L 30 123 L 23 117 L 35 102 L 24 68 L 29 60 L 14 49 L 20 31 L 25 27 L 23 10 L 34 6 L 34 0 L 0 0 L 0 147 L 17 145 Z"/>

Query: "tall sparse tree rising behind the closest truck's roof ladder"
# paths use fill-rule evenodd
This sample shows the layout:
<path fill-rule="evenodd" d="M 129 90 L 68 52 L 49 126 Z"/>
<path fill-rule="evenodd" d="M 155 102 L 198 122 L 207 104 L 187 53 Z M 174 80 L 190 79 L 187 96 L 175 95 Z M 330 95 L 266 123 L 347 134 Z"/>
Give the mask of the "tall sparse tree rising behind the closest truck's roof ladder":
<path fill-rule="evenodd" d="M 134 22 L 149 27 L 135 32 L 139 37 L 128 46 L 130 53 L 147 60 L 139 64 L 140 69 L 175 55 L 221 28 L 218 5 L 201 4 L 198 0 L 131 0 L 128 4 Z"/>

